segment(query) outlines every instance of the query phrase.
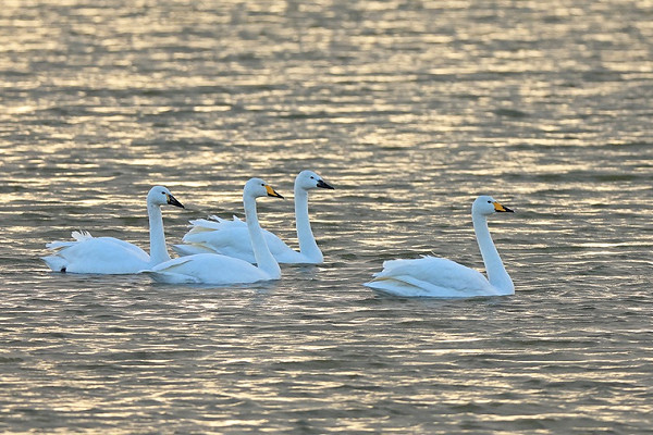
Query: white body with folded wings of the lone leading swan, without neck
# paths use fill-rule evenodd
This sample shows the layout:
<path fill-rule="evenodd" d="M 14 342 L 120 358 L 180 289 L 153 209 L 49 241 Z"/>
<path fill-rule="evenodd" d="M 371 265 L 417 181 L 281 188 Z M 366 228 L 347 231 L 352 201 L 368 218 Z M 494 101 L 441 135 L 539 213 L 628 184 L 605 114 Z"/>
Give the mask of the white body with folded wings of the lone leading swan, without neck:
<path fill-rule="evenodd" d="M 386 261 L 383 270 L 366 285 L 412 297 L 465 298 L 497 294 L 480 272 L 435 257 Z"/>

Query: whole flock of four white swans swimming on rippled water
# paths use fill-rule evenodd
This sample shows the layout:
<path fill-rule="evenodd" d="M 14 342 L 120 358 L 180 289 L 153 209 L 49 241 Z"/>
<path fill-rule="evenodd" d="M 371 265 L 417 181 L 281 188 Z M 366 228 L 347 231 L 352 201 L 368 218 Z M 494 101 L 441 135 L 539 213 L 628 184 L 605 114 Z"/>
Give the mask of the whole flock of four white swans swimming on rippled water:
<path fill-rule="evenodd" d="M 261 178 L 251 178 L 243 189 L 245 221 L 210 216 L 190 221 L 190 229 L 172 259 L 165 245 L 161 206 L 184 208 L 170 190 L 155 186 L 147 195 L 149 217 L 149 254 L 139 247 L 114 237 L 94 237 L 73 232 L 73 241 L 47 244 L 52 252 L 42 260 L 54 272 L 89 274 L 144 273 L 152 279 L 172 284 L 235 285 L 281 278 L 279 263 L 319 264 L 322 251 L 313 237 L 308 215 L 309 190 L 333 189 L 312 171 L 301 171 L 295 178 L 295 221 L 299 251 L 288 247 L 274 234 L 261 228 L 256 200 L 283 198 Z M 452 260 L 422 257 L 391 260 L 366 286 L 402 297 L 470 298 L 505 296 L 515 286 L 490 236 L 488 216 L 513 212 L 492 197 L 480 196 L 471 206 L 471 221 L 485 264 L 488 277 Z"/>

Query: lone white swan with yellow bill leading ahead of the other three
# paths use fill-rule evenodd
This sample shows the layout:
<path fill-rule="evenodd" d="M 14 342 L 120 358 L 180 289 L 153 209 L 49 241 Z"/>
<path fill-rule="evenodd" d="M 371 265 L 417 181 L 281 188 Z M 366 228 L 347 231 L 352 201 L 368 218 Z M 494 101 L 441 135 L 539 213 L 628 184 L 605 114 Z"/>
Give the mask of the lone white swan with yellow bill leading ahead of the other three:
<path fill-rule="evenodd" d="M 423 257 L 415 260 L 391 260 L 383 271 L 365 285 L 403 297 L 471 298 L 477 296 L 514 295 L 513 279 L 494 247 L 488 219 L 495 212 L 513 212 L 492 197 L 478 197 L 471 206 L 471 221 L 483 257 L 488 278 L 480 272 L 454 261 Z"/>

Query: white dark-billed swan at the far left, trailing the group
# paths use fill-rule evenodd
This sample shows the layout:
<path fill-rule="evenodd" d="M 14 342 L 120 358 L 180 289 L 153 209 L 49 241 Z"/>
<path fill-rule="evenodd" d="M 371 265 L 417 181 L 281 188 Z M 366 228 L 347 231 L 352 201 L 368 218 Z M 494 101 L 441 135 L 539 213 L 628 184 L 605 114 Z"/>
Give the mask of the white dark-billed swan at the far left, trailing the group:
<path fill-rule="evenodd" d="M 163 234 L 161 206 L 184 206 L 163 186 L 147 194 L 150 254 L 136 245 L 114 237 L 93 237 L 87 232 L 73 232 L 75 241 L 52 241 L 46 247 L 54 251 L 42 260 L 54 272 L 128 274 L 170 260 Z"/>

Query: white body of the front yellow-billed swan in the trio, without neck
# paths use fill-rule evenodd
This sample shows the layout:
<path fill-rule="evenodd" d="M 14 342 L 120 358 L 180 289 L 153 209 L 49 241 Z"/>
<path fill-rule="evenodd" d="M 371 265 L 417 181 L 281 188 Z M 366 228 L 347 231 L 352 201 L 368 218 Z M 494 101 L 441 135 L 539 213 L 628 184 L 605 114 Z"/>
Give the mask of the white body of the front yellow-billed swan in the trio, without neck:
<path fill-rule="evenodd" d="M 163 283 L 231 285 L 271 279 L 267 273 L 246 261 L 217 253 L 181 257 L 143 272 Z"/>

